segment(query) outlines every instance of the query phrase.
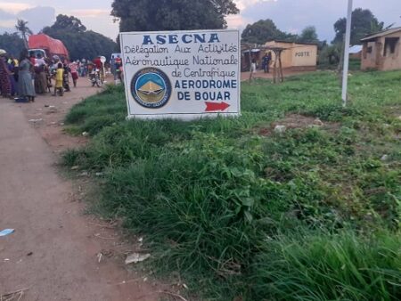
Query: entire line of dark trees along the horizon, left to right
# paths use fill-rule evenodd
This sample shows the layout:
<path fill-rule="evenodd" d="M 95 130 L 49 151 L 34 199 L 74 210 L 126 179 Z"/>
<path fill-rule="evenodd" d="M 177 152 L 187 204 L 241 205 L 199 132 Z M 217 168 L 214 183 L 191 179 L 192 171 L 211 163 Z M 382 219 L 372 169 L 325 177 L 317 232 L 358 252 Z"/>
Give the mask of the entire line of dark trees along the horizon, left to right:
<path fill-rule="evenodd" d="M 225 17 L 239 12 L 233 0 L 114 0 L 111 15 L 119 22 L 120 31 L 155 31 L 226 28 Z M 357 8 L 352 13 L 351 45 L 360 44 L 360 39 L 385 29 L 370 10 Z M 19 20 L 15 33 L 0 35 L 0 45 L 16 54 L 30 34 L 26 22 Z M 263 45 L 271 40 L 300 43 L 315 43 L 331 63 L 340 60 L 340 45 L 346 28 L 346 18 L 334 25 L 335 37 L 328 45 L 319 40 L 314 26 L 304 28 L 299 35 L 280 30 L 273 20 L 258 20 L 244 28 L 241 41 Z M 58 15 L 54 24 L 42 29 L 43 33 L 60 39 L 70 51 L 71 59 L 106 57 L 115 52 L 119 45 L 109 37 L 87 30 L 81 20 L 74 16 Z M 117 41 L 119 42 L 119 41 Z"/>

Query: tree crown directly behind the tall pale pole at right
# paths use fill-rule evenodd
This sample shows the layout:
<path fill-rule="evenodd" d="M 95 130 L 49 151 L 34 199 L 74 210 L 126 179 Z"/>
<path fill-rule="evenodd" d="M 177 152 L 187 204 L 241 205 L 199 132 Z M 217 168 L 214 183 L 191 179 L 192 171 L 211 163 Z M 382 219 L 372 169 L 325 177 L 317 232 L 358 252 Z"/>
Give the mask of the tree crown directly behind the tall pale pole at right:
<path fill-rule="evenodd" d="M 334 23 L 334 30 L 336 37 L 332 41 L 335 43 L 342 43 L 343 37 L 346 32 L 347 18 L 340 18 Z M 351 22 L 351 45 L 361 44 L 361 39 L 376 32 L 383 30 L 384 23 L 377 20 L 370 10 L 363 10 L 356 8 L 352 12 Z"/>

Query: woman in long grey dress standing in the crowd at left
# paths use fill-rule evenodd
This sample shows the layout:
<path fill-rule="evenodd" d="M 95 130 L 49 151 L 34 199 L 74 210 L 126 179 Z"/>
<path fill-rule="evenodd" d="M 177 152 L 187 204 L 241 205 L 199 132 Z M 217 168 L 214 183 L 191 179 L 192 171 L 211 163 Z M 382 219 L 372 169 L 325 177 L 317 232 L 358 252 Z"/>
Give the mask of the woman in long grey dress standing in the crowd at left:
<path fill-rule="evenodd" d="M 20 53 L 18 72 L 18 94 L 21 98 L 27 98 L 29 102 L 35 102 L 35 88 L 32 84 L 32 64 L 29 61 L 29 53 L 24 49 Z"/>

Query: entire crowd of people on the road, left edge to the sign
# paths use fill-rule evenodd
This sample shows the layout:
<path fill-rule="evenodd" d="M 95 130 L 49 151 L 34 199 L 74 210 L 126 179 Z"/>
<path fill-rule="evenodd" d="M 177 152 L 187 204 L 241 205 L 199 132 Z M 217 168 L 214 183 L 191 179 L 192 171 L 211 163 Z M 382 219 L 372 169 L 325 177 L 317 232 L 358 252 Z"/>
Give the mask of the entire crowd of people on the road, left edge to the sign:
<path fill-rule="evenodd" d="M 57 55 L 45 58 L 42 53 L 29 53 L 24 49 L 18 60 L 0 49 L 0 94 L 26 102 L 35 102 L 37 94 L 52 93 L 52 90 L 54 96 L 62 96 L 64 92 L 70 92 L 70 78 L 76 87 L 78 77 L 90 76 L 96 69 L 103 81 L 106 68 L 110 69 L 116 84 L 122 82 L 122 60 L 119 55 L 112 56 L 110 65 L 106 63 L 103 66 L 101 56 L 93 61 L 82 59 L 69 62 Z"/>

